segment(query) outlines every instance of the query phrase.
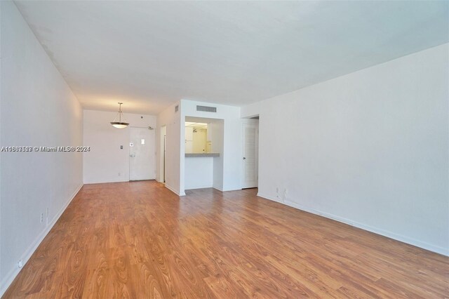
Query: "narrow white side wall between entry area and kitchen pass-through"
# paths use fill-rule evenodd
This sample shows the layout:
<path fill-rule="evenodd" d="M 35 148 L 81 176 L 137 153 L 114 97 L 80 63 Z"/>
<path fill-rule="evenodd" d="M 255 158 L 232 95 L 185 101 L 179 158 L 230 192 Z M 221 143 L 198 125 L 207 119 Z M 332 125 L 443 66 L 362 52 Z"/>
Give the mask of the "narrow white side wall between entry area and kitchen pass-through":
<path fill-rule="evenodd" d="M 182 192 L 180 190 L 180 147 L 181 147 L 181 139 L 180 135 L 182 132 L 182 148 L 184 148 L 184 134 L 185 134 L 185 122 L 180 121 L 180 110 L 175 112 L 175 106 L 179 105 L 180 102 L 176 102 L 171 105 L 167 109 L 163 110 L 157 117 L 157 147 L 161 148 L 161 128 L 162 126 L 166 126 L 166 187 L 171 191 L 175 192 L 178 195 L 185 195 L 184 189 Z M 184 152 L 182 152 L 182 156 L 184 157 Z M 161 151 L 158 151 L 157 154 L 157 175 L 159 182 L 161 182 L 160 171 L 161 168 Z M 184 175 L 184 173 L 182 173 Z M 184 180 L 184 178 L 182 178 Z"/>

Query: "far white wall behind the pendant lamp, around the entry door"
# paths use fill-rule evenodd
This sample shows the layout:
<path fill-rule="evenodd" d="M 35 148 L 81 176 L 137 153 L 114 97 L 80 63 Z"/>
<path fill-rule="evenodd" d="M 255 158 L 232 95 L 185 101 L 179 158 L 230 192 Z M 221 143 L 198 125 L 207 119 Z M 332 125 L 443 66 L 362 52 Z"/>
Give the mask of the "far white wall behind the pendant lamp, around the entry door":
<path fill-rule="evenodd" d="M 85 152 L 83 157 L 83 181 L 85 184 L 128 182 L 129 128 L 152 126 L 156 130 L 154 115 L 130 113 L 123 113 L 129 123 L 127 128 L 114 128 L 110 122 L 114 120 L 116 114 L 117 112 L 84 110 L 83 145 L 91 147 L 91 152 Z M 156 140 L 152 140 L 152 142 L 156 144 Z M 123 145 L 123 150 L 120 149 L 121 145 Z M 156 165 L 156 152 L 154 152 L 153 165 Z"/>

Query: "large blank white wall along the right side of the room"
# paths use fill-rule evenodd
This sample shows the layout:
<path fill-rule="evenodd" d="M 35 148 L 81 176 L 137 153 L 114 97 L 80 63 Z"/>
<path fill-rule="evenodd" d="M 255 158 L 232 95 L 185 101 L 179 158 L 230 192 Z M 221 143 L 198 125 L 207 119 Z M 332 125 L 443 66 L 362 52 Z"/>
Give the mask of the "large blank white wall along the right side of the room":
<path fill-rule="evenodd" d="M 448 255 L 448 51 L 243 107 L 260 114 L 260 196 Z"/>

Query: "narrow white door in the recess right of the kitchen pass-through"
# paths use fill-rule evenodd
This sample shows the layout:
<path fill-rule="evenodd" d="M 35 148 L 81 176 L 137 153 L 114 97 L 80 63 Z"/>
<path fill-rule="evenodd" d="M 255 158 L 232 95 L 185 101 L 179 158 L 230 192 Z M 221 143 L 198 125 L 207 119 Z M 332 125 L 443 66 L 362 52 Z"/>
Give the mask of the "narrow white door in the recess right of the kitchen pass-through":
<path fill-rule="evenodd" d="M 259 164 L 259 122 L 253 119 L 243 121 L 242 136 L 242 188 L 257 187 Z"/>

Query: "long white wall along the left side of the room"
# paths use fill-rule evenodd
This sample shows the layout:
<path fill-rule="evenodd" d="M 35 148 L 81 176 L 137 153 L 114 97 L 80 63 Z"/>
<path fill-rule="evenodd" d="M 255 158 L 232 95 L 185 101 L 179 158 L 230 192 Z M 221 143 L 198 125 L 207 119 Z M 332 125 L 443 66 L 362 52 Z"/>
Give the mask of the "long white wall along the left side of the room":
<path fill-rule="evenodd" d="M 1 146 L 81 146 L 78 100 L 15 4 L 0 5 Z M 82 159 L 81 152 L 1 153 L 0 295 L 82 186 Z"/>

